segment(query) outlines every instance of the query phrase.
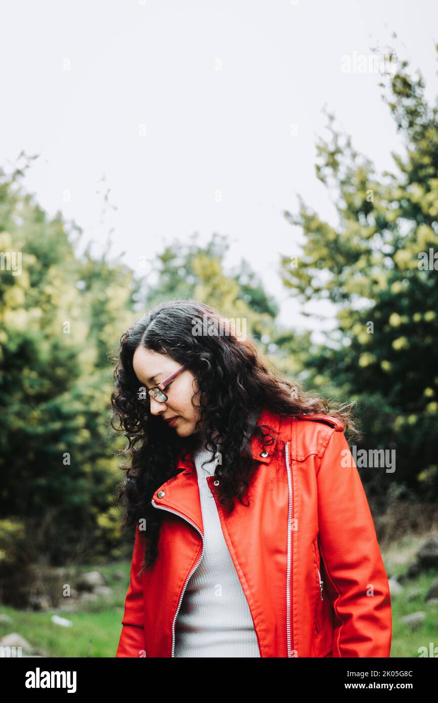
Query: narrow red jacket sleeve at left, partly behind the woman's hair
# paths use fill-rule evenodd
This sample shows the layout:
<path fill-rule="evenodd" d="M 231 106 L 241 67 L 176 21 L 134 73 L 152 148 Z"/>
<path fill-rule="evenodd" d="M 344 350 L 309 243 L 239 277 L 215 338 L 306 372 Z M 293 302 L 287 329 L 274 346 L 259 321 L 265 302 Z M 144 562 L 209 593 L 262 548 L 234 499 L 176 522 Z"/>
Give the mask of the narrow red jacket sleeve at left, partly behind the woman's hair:
<path fill-rule="evenodd" d="M 139 525 L 137 525 L 131 561 L 131 580 L 124 602 L 123 627 L 116 657 L 146 656 L 143 624 L 143 575 L 139 576 L 143 565 L 144 548 L 145 542 Z"/>

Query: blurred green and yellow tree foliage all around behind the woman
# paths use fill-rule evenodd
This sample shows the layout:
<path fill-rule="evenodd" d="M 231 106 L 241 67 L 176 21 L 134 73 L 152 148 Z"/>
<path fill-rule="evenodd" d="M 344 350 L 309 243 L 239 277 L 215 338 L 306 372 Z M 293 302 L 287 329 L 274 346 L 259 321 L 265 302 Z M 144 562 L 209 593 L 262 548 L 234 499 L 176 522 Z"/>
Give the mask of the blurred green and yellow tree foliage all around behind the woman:
<path fill-rule="evenodd" d="M 22 252 L 19 276 L 0 271 L 2 602 L 25 605 L 41 569 L 125 553 L 112 503 L 124 439 L 109 425 L 111 356 L 146 309 L 176 297 L 245 318 L 273 373 L 326 398 L 354 399 L 358 449 L 397 449 L 394 474 L 359 469 L 380 540 L 399 534 L 403 511 L 395 503 L 411 508 L 404 529 L 430 527 L 438 496 L 438 286 L 436 268 L 420 270 L 418 254 L 438 251 L 437 105 L 427 103 L 421 75 L 409 75 L 406 62 L 381 85 L 404 137 L 394 173 L 376 174 L 328 115 L 316 175 L 338 224 L 301 198 L 297 214 L 285 211 L 305 237 L 293 266 L 286 256 L 279 262 L 285 291 L 337 304 L 337 325 L 321 344 L 277 323 L 278 304 L 247 261 L 226 270 L 225 237 L 214 234 L 207 245 L 197 236 L 176 239 L 139 275 L 108 251 L 79 254 L 81 228 L 60 212 L 48 217 L 22 186 L 25 169 L 0 169 L 0 251 Z"/>

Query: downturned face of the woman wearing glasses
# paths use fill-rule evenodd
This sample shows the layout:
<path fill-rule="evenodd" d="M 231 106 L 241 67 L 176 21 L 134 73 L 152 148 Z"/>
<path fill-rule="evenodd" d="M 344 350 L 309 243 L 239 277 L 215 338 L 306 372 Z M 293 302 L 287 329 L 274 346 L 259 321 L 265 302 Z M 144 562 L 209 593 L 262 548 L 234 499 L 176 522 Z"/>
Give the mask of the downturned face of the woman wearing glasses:
<path fill-rule="evenodd" d="M 144 347 L 137 347 L 132 365 L 136 377 L 147 390 L 157 386 L 182 366 L 181 363 L 174 361 L 167 354 L 158 354 L 158 352 L 152 352 Z M 176 422 L 170 427 L 175 430 L 176 434 L 179 434 L 179 437 L 188 437 L 195 432 L 195 423 L 200 416 L 199 411 L 193 408 L 191 403 L 193 395 L 197 391 L 198 382 L 195 376 L 185 368 L 164 389 L 168 398 L 165 403 L 150 398 L 150 413 L 161 415 L 163 422 L 177 416 Z"/>

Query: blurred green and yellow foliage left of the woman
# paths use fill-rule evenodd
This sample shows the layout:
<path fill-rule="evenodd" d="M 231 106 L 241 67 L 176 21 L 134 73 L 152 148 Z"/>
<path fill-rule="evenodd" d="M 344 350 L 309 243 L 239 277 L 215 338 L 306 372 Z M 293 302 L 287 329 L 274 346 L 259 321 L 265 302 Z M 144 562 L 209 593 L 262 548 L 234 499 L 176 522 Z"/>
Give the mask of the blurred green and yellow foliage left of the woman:
<path fill-rule="evenodd" d="M 22 174 L 0 172 L 1 586 L 17 604 L 34 563 L 83 562 L 117 544 L 108 353 L 136 290 L 126 266 L 77 256 L 79 228 L 47 217 Z"/>

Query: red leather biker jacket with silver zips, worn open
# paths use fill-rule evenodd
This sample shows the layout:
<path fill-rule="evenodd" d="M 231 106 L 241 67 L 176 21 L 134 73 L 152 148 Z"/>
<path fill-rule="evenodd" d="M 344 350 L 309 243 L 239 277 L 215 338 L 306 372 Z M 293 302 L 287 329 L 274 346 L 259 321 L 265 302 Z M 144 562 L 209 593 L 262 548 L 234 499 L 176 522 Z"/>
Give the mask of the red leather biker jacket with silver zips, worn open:
<path fill-rule="evenodd" d="M 260 414 L 262 423 L 281 441 L 264 451 L 252 439 L 258 464 L 248 507 L 236 501 L 227 515 L 215 495 L 216 477 L 206 478 L 260 656 L 389 657 L 387 574 L 344 425 L 329 415 L 269 411 Z M 140 576 L 144 543 L 136 528 L 116 657 L 174 656 L 176 617 L 204 545 L 193 456 L 178 467 L 153 494 L 154 507 L 166 515 L 157 561 Z"/>

